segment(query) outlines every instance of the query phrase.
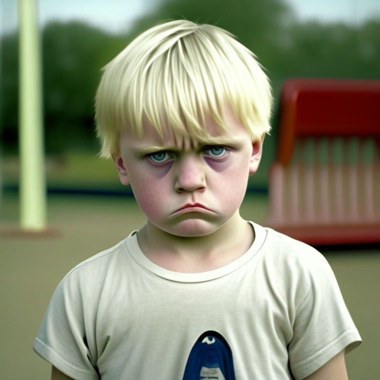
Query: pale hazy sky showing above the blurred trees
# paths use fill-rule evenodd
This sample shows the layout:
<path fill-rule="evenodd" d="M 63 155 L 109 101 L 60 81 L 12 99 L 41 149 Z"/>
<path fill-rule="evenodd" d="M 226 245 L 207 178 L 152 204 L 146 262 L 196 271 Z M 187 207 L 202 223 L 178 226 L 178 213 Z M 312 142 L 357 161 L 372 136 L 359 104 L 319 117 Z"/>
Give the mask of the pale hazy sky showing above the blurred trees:
<path fill-rule="evenodd" d="M 231 0 L 233 1 L 233 0 Z M 285 0 L 299 20 L 358 24 L 380 18 L 380 0 Z M 159 0 L 38 0 L 42 25 L 52 20 L 80 20 L 112 33 L 127 31 L 133 21 L 154 10 Z M 17 26 L 17 0 L 0 0 L 0 30 Z"/>

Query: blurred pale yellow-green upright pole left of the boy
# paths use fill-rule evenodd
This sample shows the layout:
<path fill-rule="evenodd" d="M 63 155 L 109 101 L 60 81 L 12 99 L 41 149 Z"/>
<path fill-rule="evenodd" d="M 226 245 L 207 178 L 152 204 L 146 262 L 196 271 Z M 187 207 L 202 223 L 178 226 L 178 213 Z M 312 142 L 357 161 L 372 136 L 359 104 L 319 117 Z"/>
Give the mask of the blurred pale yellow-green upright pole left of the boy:
<path fill-rule="evenodd" d="M 20 228 L 46 228 L 47 196 L 40 36 L 35 0 L 18 0 Z"/>

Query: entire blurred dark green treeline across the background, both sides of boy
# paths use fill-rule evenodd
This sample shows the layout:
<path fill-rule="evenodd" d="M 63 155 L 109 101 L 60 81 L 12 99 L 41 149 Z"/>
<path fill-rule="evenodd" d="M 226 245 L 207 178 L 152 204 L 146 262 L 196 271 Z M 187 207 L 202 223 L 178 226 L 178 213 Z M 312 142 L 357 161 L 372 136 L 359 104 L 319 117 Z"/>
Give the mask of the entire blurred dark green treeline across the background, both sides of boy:
<path fill-rule="evenodd" d="M 290 77 L 380 79 L 379 19 L 360 26 L 299 23 L 281 0 L 167 0 L 124 36 L 78 22 L 52 23 L 42 32 L 48 153 L 97 151 L 94 96 L 101 67 L 143 30 L 181 18 L 236 35 L 266 68 L 275 97 Z M 18 140 L 17 35 L 3 37 L 0 51 L 0 150 L 11 153 Z"/>

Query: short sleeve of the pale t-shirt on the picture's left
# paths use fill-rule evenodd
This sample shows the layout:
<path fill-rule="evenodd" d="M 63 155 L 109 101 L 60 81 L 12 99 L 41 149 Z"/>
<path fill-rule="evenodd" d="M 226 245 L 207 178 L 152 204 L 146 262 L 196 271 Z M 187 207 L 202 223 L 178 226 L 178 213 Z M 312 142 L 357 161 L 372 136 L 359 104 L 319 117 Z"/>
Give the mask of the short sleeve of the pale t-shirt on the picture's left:
<path fill-rule="evenodd" d="M 67 275 L 55 289 L 33 350 L 73 379 L 98 380 L 81 298 L 78 280 Z"/>

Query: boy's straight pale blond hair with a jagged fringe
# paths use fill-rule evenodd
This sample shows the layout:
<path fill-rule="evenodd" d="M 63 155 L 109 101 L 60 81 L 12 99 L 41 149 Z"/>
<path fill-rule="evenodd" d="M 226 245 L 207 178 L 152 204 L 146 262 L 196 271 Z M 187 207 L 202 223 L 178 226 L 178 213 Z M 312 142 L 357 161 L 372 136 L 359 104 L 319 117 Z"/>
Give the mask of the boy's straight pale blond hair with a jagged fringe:
<path fill-rule="evenodd" d="M 228 102 L 252 141 L 270 131 L 272 95 L 255 55 L 213 25 L 177 20 L 142 33 L 104 68 L 95 98 L 100 156 L 120 155 L 119 133 L 143 135 L 146 116 L 162 136 L 207 141 L 205 114 L 224 130 Z"/>

